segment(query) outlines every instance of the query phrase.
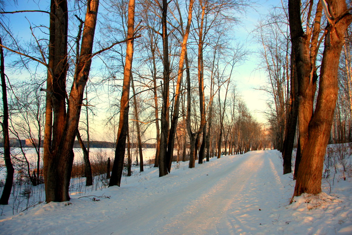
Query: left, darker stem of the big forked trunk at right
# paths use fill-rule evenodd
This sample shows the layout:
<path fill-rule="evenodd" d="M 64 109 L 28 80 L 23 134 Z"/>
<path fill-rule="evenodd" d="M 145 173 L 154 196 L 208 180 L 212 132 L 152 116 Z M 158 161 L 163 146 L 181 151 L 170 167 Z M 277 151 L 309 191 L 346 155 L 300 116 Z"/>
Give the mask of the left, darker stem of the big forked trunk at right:
<path fill-rule="evenodd" d="M 299 133 L 299 143 L 296 154 L 296 163 L 295 163 L 295 175 L 298 173 L 298 167 L 301 159 L 301 151 L 303 148 L 303 143 L 306 140 L 308 132 L 308 123 L 313 115 L 313 99 L 316 90 L 316 80 L 318 76 L 316 75 L 315 68 L 315 59 L 316 56 L 310 56 L 310 53 L 315 53 L 317 50 L 317 39 L 319 36 L 320 30 L 320 19 L 322 6 L 321 2 L 318 2 L 313 34 L 306 35 L 302 29 L 300 7 L 296 4 L 300 4 L 300 1 L 290 1 L 291 4 L 289 10 L 289 22 L 290 22 L 290 33 L 291 33 L 291 42 L 292 42 L 292 52 L 294 60 L 294 76 L 297 74 L 297 85 L 298 85 L 298 133 Z M 298 13 L 298 15 L 297 15 Z M 312 51 L 309 51 L 309 36 L 314 36 L 312 39 Z M 312 57 L 312 59 L 311 59 Z M 291 71 L 292 73 L 292 71 Z M 295 74 L 296 73 L 296 74 Z M 300 151 L 298 151 L 300 150 Z M 285 153 L 286 154 L 286 153 Z M 294 176 L 295 178 L 295 176 Z"/>

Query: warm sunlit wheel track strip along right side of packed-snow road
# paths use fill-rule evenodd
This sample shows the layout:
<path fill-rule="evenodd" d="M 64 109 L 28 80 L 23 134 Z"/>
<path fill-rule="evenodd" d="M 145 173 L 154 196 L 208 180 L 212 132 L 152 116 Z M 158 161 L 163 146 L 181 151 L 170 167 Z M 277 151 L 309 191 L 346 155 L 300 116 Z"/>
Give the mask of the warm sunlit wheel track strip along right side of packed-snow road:
<path fill-rule="evenodd" d="M 191 207 L 175 216 L 172 223 L 165 227 L 164 234 L 202 235 L 205 231 L 207 234 L 219 234 L 218 224 L 224 219 L 226 211 L 241 193 L 243 186 L 251 179 L 251 169 L 257 160 L 246 155 L 238 157 L 233 156 L 233 164 L 213 174 L 205 182 L 212 187 L 208 186 L 208 190 L 197 192 L 199 196 L 190 203 Z"/>

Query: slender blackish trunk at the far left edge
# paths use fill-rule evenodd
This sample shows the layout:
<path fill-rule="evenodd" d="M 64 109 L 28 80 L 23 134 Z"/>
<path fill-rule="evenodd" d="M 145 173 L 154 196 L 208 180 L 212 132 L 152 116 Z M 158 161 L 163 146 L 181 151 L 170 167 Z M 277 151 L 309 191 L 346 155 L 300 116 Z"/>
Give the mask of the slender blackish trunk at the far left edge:
<path fill-rule="evenodd" d="M 0 37 L 0 44 L 1 37 Z M 7 105 L 7 88 L 6 88 L 6 79 L 5 79 L 5 65 L 4 65 L 4 51 L 0 46 L 0 77 L 1 77 L 1 89 L 2 89 L 2 106 L 3 106 L 3 114 L 2 114 L 2 134 L 4 136 L 4 160 L 6 166 L 6 180 L 4 189 L 2 190 L 0 205 L 7 205 L 8 199 L 11 195 L 11 189 L 13 184 L 13 174 L 14 169 L 11 161 L 10 155 L 10 139 L 8 137 L 8 105 Z"/>

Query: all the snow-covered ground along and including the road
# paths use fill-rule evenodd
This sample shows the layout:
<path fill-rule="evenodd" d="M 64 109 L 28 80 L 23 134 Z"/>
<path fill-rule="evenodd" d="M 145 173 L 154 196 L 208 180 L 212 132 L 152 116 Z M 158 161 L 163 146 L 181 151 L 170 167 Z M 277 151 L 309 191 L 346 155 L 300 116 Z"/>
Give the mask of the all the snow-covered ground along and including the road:
<path fill-rule="evenodd" d="M 248 152 L 194 169 L 180 163 L 161 178 L 157 169 L 145 169 L 121 188 L 3 215 L 0 234 L 351 235 L 351 179 L 325 183 L 329 195 L 289 204 L 295 183 L 282 175 L 278 156 L 275 150 Z"/>

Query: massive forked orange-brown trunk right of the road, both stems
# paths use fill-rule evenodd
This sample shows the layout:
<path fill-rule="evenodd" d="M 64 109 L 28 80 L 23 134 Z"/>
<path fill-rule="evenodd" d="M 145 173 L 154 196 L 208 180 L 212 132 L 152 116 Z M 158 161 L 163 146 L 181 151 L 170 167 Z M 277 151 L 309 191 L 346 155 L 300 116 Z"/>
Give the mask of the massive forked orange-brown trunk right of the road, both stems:
<path fill-rule="evenodd" d="M 322 4 L 325 4 L 325 1 L 322 1 Z M 313 114 L 315 89 L 312 89 L 312 84 L 314 86 L 315 78 L 313 75 L 315 66 L 312 69 L 312 64 L 314 65 L 316 58 L 314 54 L 318 47 L 314 43 L 314 31 L 316 28 L 314 25 L 313 43 L 310 48 L 311 53 L 309 53 L 309 37 L 302 30 L 300 3 L 297 0 L 289 1 L 290 32 L 295 51 L 300 94 L 298 122 L 300 128 L 301 162 L 298 166 L 294 196 L 300 196 L 302 193 L 317 194 L 321 192 L 324 155 L 338 94 L 337 71 L 339 58 L 346 28 L 352 21 L 351 15 L 346 13 L 346 10 L 347 7 L 344 0 L 329 1 L 329 6 L 325 9 L 329 23 L 325 31 L 326 36 L 320 68 L 319 92 Z M 315 20 L 314 24 L 319 24 L 319 22 L 320 19 Z M 312 71 L 313 75 L 310 75 Z"/>

